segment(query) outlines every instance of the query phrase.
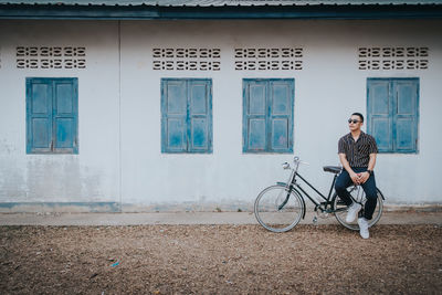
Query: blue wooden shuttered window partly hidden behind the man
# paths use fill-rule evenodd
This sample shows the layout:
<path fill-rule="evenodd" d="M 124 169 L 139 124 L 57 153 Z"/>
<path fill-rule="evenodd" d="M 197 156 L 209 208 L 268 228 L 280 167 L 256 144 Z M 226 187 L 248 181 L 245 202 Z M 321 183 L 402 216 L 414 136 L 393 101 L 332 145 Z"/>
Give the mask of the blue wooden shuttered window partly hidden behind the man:
<path fill-rule="evenodd" d="M 367 115 L 380 152 L 418 152 L 419 78 L 368 78 Z"/>

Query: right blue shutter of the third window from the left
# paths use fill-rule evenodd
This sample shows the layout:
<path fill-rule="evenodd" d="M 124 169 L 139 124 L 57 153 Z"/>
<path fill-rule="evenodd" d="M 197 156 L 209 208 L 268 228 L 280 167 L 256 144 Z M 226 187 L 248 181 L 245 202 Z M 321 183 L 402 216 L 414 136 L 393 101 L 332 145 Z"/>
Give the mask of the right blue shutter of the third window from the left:
<path fill-rule="evenodd" d="M 272 151 L 292 151 L 293 81 L 270 82 L 269 143 Z"/>

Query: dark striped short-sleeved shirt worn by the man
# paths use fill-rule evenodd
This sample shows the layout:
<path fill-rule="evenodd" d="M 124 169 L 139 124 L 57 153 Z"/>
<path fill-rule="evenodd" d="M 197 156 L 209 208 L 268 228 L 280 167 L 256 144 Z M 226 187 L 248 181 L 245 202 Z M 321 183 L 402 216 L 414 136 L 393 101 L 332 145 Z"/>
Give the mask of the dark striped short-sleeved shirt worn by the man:
<path fill-rule="evenodd" d="M 338 154 L 345 154 L 350 167 L 368 167 L 370 154 L 377 154 L 378 146 L 371 135 L 360 131 L 357 141 L 351 133 L 343 136 L 338 143 Z"/>

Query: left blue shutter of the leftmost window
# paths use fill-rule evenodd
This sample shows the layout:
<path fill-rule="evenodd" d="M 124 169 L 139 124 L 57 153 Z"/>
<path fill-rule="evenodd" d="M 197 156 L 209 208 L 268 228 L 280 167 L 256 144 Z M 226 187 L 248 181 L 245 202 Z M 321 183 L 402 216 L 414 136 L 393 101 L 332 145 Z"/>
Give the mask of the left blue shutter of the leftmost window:
<path fill-rule="evenodd" d="M 50 152 L 52 145 L 52 83 L 27 78 L 27 152 Z"/>

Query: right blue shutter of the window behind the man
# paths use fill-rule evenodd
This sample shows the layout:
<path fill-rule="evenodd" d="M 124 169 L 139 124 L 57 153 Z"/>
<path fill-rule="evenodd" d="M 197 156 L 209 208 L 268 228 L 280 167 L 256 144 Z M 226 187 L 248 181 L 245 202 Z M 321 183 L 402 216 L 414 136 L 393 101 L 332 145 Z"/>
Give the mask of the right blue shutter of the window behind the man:
<path fill-rule="evenodd" d="M 418 81 L 399 80 L 393 85 L 393 138 L 397 151 L 417 151 Z"/>

